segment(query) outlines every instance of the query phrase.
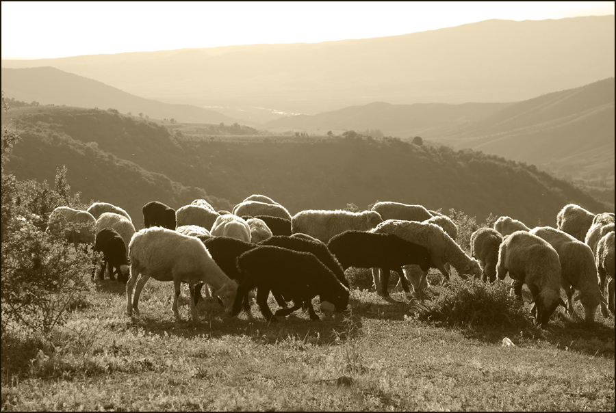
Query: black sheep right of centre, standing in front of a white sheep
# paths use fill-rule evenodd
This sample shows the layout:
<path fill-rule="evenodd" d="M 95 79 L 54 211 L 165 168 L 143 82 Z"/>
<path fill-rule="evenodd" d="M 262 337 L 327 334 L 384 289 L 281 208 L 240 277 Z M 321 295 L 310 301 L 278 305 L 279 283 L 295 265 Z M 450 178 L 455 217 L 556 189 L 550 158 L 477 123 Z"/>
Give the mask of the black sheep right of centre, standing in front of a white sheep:
<path fill-rule="evenodd" d="M 327 248 L 345 270 L 348 267 L 381 268 L 383 270 L 381 286 L 384 296 L 389 295 L 387 283 L 390 270 L 400 274 L 402 289 L 409 293 L 409 284 L 402 274 L 402 265 L 419 265 L 422 271 L 430 269 L 428 249 L 397 235 L 348 230 L 332 237 Z"/>

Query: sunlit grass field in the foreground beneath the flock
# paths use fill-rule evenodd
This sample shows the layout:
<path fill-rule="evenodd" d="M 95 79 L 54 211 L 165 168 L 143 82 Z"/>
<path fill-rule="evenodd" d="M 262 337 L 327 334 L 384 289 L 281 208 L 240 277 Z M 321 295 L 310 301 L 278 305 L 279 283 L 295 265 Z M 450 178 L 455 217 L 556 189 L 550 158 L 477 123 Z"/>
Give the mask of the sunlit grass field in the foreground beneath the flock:
<path fill-rule="evenodd" d="M 171 295 L 150 280 L 130 319 L 123 285 L 105 280 L 51 336 L 5 333 L 2 410 L 615 408 L 614 319 L 600 312 L 587 325 L 561 309 L 546 330 L 444 328 L 404 293 L 355 289 L 348 314 L 320 322 L 268 325 L 254 303 L 254 319 L 229 318 L 209 299 L 196 325 L 175 323 Z"/>

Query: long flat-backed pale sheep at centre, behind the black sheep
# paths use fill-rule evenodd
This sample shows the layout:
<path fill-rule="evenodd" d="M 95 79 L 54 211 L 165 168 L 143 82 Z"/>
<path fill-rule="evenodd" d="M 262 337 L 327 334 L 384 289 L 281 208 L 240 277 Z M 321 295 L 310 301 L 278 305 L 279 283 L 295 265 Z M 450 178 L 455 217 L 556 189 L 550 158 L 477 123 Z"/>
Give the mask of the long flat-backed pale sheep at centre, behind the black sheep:
<path fill-rule="evenodd" d="M 291 232 L 303 232 L 327 243 L 346 230 L 368 231 L 383 222 L 375 211 L 301 211 L 291 219 Z"/>

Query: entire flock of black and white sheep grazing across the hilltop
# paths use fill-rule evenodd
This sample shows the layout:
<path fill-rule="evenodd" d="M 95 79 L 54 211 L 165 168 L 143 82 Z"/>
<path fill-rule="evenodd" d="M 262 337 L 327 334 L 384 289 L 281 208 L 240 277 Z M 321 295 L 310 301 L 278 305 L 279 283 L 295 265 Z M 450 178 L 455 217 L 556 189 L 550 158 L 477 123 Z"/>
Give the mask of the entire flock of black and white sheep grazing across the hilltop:
<path fill-rule="evenodd" d="M 377 202 L 359 213 L 309 210 L 291 216 L 271 198 L 253 195 L 232 212 L 215 211 L 205 200 L 177 211 L 153 201 L 142 212 L 145 229 L 137 232 L 118 206 L 96 202 L 88 211 L 60 206 L 47 228 L 64 231 L 75 248 L 89 243 L 103 253 L 99 278 L 106 267 L 110 278 L 126 282 L 128 315 L 138 314 L 140 293 L 154 278 L 174 282 L 177 321 L 182 282 L 188 283 L 193 320 L 201 291 L 217 297 L 227 314 L 238 315 L 243 308 L 252 317 L 248 293 L 255 288 L 268 321 L 300 308 L 318 320 L 312 305 L 317 295 L 321 311 L 342 312 L 348 306 L 344 271 L 349 267 L 372 268 L 381 295 L 388 295 L 389 271 L 397 271 L 402 289 L 420 298 L 430 268 L 448 279 L 454 267 L 461 278 L 485 282 L 509 274 L 519 299 L 524 284 L 530 290 L 530 309 L 541 325 L 559 305 L 573 314 L 574 300 L 581 302 L 587 321 L 593 321 L 598 306 L 604 315 L 614 312 L 614 214 L 595 215 L 574 204 L 558 214 L 557 228 L 531 230 L 500 217 L 494 228 L 472 234 L 471 256 L 457 243 L 454 222 L 421 205 Z M 270 293 L 280 307 L 274 313 L 267 304 Z"/>

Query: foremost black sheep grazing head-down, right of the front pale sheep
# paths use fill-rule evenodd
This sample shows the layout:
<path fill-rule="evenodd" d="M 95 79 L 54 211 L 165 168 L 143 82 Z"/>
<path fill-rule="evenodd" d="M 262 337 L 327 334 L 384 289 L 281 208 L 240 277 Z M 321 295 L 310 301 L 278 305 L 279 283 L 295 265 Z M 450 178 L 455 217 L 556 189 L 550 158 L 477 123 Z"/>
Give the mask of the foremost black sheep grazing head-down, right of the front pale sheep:
<path fill-rule="evenodd" d="M 348 289 L 321 261 L 309 252 L 296 252 L 273 245 L 262 245 L 238 258 L 238 271 L 245 280 L 238 287 L 233 304 L 233 315 L 240 312 L 242 297 L 257 287 L 257 304 L 261 314 L 268 321 L 277 321 L 268 307 L 270 291 L 287 301 L 293 300 L 293 307 L 277 310 L 276 316 L 289 315 L 301 306 L 308 308 L 310 319 L 318 321 L 312 306 L 312 298 L 319 295 L 323 301 L 332 303 L 342 312 L 348 306 Z"/>

